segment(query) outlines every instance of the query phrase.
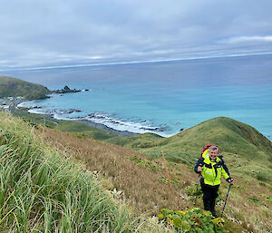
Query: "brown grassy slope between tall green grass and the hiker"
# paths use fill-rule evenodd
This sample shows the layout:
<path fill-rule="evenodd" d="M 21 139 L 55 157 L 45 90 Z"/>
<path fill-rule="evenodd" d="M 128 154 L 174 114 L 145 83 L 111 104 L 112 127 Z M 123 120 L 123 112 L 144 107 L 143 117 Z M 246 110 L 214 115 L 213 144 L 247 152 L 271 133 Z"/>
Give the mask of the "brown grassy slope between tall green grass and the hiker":
<path fill-rule="evenodd" d="M 193 207 L 194 197 L 189 192 L 195 190 L 196 175 L 184 164 L 168 162 L 170 189 L 162 160 L 147 159 L 136 151 L 102 141 L 75 138 L 71 133 L 50 129 L 43 129 L 41 133 L 49 143 L 84 160 L 87 168 L 98 174 L 104 187 L 120 191 L 121 199 L 124 198 L 137 212 L 157 215 L 162 208 Z M 222 190 L 222 195 L 226 195 L 226 189 Z M 201 205 L 199 199 L 198 206 Z M 243 221 L 248 223 L 246 219 Z M 226 225 L 232 233 L 243 229 L 227 219 Z"/>

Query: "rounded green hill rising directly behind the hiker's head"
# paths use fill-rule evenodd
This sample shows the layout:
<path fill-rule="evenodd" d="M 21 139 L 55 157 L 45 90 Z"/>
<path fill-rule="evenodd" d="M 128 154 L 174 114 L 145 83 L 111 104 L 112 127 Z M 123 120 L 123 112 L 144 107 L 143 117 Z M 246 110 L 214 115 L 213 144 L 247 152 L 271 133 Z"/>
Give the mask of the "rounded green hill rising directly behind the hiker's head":
<path fill-rule="evenodd" d="M 248 124 L 226 117 L 204 121 L 170 137 L 146 133 L 130 138 L 114 137 L 108 141 L 139 150 L 156 157 L 160 150 L 168 153 L 170 160 L 193 162 L 207 142 L 214 142 L 224 153 L 238 153 L 245 159 L 272 161 L 272 143 Z"/>

